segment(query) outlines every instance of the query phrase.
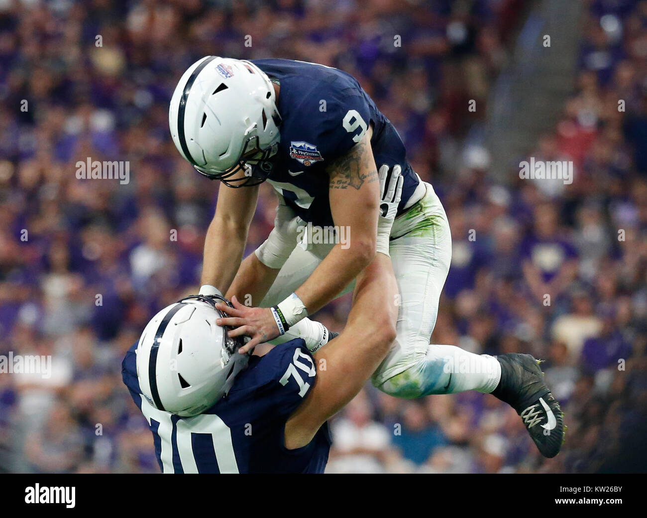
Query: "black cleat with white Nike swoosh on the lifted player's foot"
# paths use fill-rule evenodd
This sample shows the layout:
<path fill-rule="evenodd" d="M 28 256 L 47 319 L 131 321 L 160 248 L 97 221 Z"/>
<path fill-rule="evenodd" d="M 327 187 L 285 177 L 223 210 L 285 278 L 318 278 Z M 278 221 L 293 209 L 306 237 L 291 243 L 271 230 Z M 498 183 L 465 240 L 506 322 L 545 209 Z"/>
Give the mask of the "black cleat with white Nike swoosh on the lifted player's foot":
<path fill-rule="evenodd" d="M 492 394 L 517 411 L 540 453 L 553 458 L 564 442 L 564 414 L 543 379 L 540 361 L 518 353 L 497 359 L 501 381 Z"/>

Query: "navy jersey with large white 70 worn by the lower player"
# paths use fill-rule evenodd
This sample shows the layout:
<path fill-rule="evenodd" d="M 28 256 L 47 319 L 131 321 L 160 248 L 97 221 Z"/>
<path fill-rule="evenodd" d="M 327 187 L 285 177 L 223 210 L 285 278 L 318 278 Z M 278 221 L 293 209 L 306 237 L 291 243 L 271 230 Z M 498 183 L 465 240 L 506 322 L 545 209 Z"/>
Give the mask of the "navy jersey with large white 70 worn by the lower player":
<path fill-rule="evenodd" d="M 302 339 L 250 357 L 228 396 L 199 416 L 162 412 L 142 398 L 135 343 L 122 377 L 153 433 L 164 473 L 323 473 L 331 439 L 324 423 L 310 444 L 287 449 L 285 422 L 316 380 L 314 360 Z"/>

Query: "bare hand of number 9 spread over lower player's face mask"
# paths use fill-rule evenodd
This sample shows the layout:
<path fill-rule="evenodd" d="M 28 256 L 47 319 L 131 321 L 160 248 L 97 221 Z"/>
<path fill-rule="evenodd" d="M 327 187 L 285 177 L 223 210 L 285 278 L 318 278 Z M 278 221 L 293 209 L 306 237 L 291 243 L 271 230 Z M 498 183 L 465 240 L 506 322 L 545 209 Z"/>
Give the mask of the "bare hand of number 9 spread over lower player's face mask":
<path fill-rule="evenodd" d="M 239 348 L 240 354 L 245 354 L 258 344 L 269 342 L 280 335 L 270 308 L 249 308 L 238 302 L 236 297 L 232 297 L 232 304 L 233 308 L 221 302 L 215 305 L 220 311 L 229 315 L 225 319 L 216 319 L 215 323 L 234 328 L 227 333 L 231 337 L 245 335 L 251 338 Z"/>

